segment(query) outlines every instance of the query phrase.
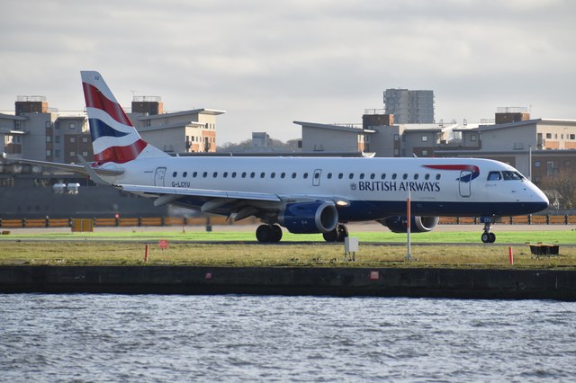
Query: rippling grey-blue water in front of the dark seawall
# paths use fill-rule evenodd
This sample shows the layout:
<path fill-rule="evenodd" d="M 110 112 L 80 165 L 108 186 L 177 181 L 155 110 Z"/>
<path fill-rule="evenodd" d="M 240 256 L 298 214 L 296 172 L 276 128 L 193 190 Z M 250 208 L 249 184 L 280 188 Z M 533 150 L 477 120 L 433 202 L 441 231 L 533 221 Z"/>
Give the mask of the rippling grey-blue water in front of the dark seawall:
<path fill-rule="evenodd" d="M 576 380 L 576 303 L 0 294 L 0 381 Z"/>

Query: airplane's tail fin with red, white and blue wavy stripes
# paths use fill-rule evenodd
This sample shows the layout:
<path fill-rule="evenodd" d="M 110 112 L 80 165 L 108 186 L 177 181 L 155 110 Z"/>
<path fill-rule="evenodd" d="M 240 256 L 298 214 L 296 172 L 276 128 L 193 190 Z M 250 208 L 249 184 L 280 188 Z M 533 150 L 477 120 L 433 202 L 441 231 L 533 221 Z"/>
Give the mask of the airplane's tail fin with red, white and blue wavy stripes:
<path fill-rule="evenodd" d="M 123 164 L 136 158 L 168 156 L 140 138 L 98 72 L 82 71 L 94 162 Z"/>

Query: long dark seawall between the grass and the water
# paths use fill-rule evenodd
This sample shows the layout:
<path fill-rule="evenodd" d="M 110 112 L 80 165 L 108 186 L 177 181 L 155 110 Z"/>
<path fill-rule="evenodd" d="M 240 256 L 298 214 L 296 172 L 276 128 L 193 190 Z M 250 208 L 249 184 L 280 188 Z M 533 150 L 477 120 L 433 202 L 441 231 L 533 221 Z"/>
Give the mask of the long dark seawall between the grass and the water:
<path fill-rule="evenodd" d="M 6 292 L 576 300 L 576 271 L 2 266 L 0 293 Z"/>

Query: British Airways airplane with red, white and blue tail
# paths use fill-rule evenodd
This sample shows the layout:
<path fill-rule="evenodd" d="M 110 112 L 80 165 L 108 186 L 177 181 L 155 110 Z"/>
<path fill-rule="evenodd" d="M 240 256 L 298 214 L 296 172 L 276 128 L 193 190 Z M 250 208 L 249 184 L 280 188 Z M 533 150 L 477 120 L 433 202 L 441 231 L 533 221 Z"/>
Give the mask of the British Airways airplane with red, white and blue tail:
<path fill-rule="evenodd" d="M 184 157 L 144 141 L 98 72 L 82 71 L 94 163 L 64 165 L 94 183 L 234 221 L 262 221 L 276 243 L 285 227 L 344 242 L 346 223 L 375 220 L 392 232 L 428 232 L 439 216 L 481 217 L 483 243 L 495 218 L 536 213 L 545 194 L 514 167 L 479 158 Z M 46 165 L 44 162 L 38 162 Z M 52 164 L 52 163 L 50 163 Z M 61 164 L 52 164 L 55 166 Z"/>

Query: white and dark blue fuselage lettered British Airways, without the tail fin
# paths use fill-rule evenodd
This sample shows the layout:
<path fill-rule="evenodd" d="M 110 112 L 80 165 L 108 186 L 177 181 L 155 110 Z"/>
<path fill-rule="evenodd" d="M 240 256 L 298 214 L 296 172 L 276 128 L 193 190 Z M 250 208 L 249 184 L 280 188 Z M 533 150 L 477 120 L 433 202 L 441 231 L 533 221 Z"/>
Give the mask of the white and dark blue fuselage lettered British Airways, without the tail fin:
<path fill-rule="evenodd" d="M 123 174 L 107 180 L 271 193 L 283 200 L 345 200 L 349 203 L 338 211 L 346 221 L 402 214 L 409 191 L 413 215 L 520 215 L 548 204 L 544 193 L 512 166 L 486 159 L 168 157 L 121 167 Z M 204 201 L 185 204 L 199 209 Z"/>

